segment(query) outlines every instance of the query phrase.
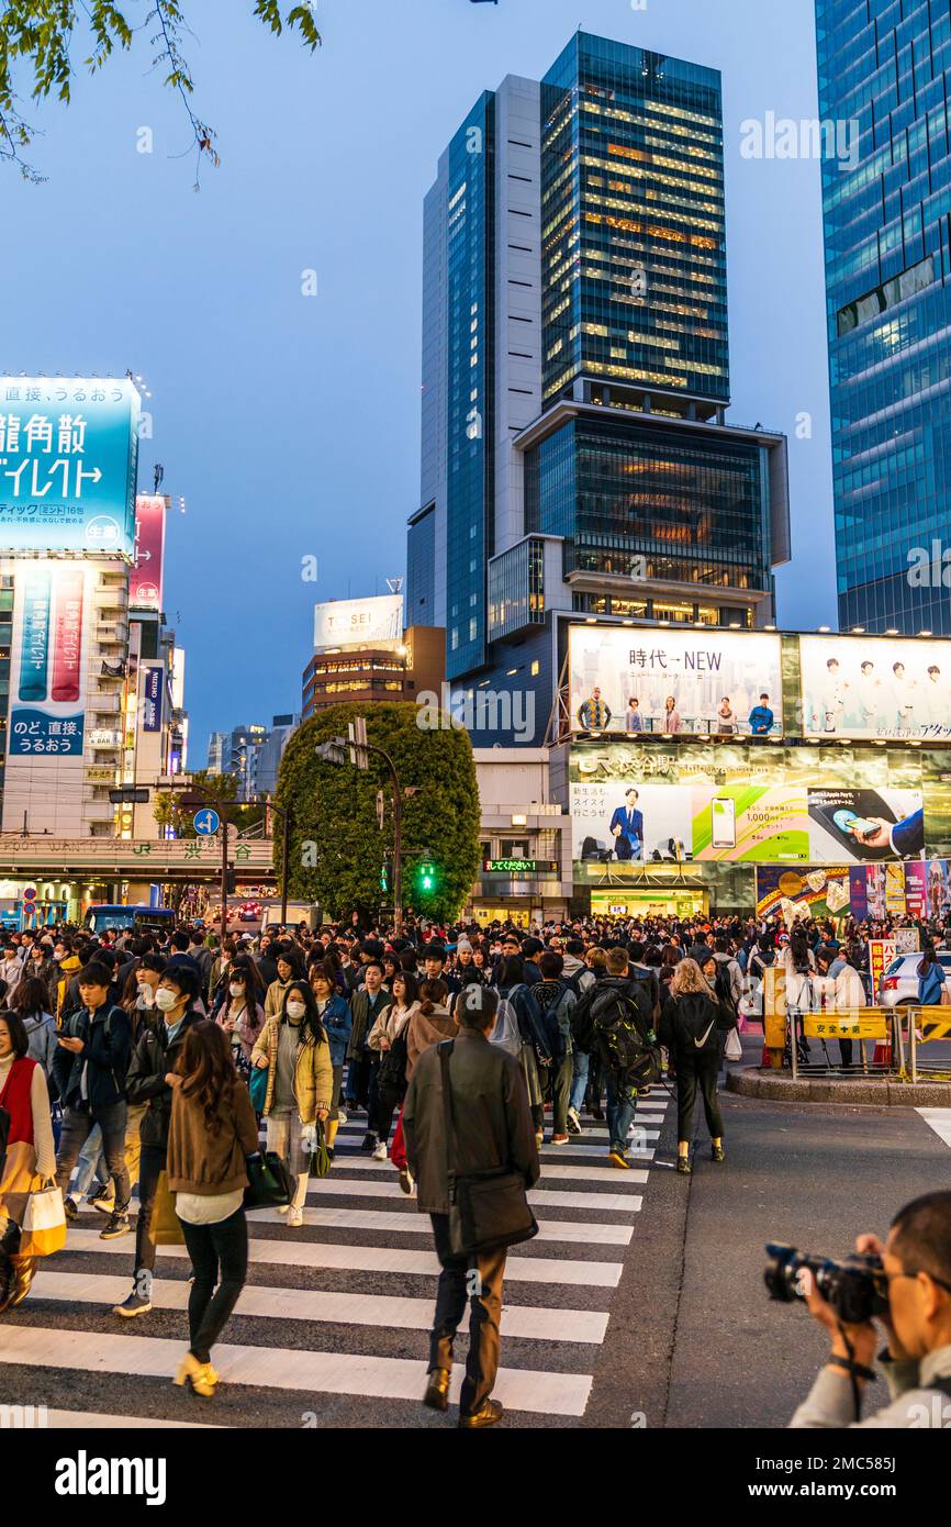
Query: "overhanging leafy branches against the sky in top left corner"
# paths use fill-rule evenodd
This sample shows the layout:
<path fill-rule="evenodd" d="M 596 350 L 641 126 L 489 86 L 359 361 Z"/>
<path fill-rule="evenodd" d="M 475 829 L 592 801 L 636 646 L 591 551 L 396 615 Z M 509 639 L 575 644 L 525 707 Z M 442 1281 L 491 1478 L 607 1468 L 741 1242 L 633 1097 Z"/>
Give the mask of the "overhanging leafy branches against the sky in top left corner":
<path fill-rule="evenodd" d="M 116 49 L 131 50 L 136 34 L 151 50 L 153 69 L 162 70 L 166 89 L 177 92 L 194 134 L 198 165 L 218 163 L 215 131 L 192 107 L 195 84 L 183 37 L 195 0 L 0 0 L 0 159 L 15 163 L 27 180 L 41 177 L 23 159 L 34 130 L 21 116 L 18 81 L 27 79 L 34 101 L 55 96 L 69 104 L 76 72 L 73 52 L 85 56 L 81 67 L 96 73 Z M 234 0 L 229 0 L 234 5 Z M 284 0 L 253 0 L 253 14 L 279 37 L 296 32 L 311 53 L 321 46 L 313 5 Z M 197 189 L 197 180 L 195 180 Z"/>

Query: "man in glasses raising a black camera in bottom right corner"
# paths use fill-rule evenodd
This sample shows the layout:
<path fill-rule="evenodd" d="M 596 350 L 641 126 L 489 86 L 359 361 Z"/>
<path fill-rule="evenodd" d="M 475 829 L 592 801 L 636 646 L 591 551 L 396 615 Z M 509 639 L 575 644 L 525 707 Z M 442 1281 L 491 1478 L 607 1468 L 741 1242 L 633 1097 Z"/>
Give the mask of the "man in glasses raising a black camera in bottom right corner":
<path fill-rule="evenodd" d="M 914 1199 L 893 1220 L 882 1246 L 875 1235 L 859 1235 L 861 1257 L 881 1258 L 872 1274 L 888 1301 L 879 1319 L 887 1348 L 873 1368 L 878 1332 L 872 1321 L 840 1321 L 803 1269 L 803 1292 L 812 1316 L 832 1338 L 829 1361 L 792 1428 L 951 1428 L 951 1193 Z M 891 1403 L 861 1420 L 862 1394 L 879 1374 Z"/>

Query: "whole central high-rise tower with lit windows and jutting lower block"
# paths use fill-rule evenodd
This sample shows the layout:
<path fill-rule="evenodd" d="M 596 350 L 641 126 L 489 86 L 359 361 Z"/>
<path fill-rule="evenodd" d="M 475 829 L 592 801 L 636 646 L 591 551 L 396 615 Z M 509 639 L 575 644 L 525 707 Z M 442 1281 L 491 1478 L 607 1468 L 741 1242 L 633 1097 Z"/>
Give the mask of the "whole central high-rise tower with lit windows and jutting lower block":
<path fill-rule="evenodd" d="M 774 620 L 786 441 L 725 423 L 716 70 L 577 32 L 479 96 L 426 197 L 423 313 L 406 620 L 446 628 L 453 696 L 531 696 L 540 742 L 572 617 Z"/>

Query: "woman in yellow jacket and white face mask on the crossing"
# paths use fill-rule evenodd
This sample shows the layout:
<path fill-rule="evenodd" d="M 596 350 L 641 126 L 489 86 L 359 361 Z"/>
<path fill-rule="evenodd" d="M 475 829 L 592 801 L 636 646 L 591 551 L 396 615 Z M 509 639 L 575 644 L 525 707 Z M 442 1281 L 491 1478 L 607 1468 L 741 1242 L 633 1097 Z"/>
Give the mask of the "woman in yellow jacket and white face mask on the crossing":
<path fill-rule="evenodd" d="M 269 1072 L 267 1150 L 282 1156 L 298 1179 L 287 1209 L 287 1223 L 298 1226 L 304 1223 L 316 1124 L 328 1119 L 333 1101 L 330 1041 L 305 980 L 289 982 L 282 1011 L 267 1020 L 250 1058 Z"/>

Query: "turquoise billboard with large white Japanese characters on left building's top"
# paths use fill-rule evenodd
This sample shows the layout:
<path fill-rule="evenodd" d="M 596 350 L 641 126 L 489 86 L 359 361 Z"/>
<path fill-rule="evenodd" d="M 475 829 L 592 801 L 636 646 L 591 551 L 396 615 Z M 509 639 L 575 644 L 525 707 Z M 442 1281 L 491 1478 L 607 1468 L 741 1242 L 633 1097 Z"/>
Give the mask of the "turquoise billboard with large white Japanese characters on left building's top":
<path fill-rule="evenodd" d="M 0 382 L 0 550 L 131 556 L 137 454 L 131 382 Z"/>

